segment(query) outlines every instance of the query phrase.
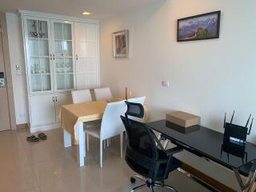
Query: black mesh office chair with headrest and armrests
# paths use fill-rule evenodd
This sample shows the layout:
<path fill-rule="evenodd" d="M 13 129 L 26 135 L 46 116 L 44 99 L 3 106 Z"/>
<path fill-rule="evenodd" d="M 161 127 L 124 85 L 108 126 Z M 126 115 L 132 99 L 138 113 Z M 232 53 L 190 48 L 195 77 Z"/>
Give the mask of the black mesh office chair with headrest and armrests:
<path fill-rule="evenodd" d="M 126 102 L 126 105 L 126 117 L 121 116 L 128 136 L 126 163 L 142 178 L 146 178 L 145 184 L 134 187 L 130 192 L 144 187 L 149 187 L 154 191 L 154 186 L 167 187 L 177 191 L 174 187 L 165 185 L 163 181 L 168 178 L 170 171 L 176 170 L 181 165 L 181 162 L 173 158 L 173 154 L 180 152 L 181 149 L 175 147 L 163 150 L 154 132 L 145 123 L 128 118 L 128 116 L 143 118 L 143 106 L 133 102 Z"/>

